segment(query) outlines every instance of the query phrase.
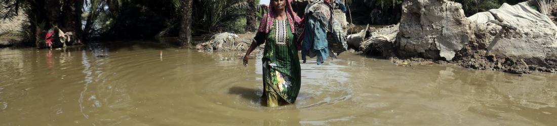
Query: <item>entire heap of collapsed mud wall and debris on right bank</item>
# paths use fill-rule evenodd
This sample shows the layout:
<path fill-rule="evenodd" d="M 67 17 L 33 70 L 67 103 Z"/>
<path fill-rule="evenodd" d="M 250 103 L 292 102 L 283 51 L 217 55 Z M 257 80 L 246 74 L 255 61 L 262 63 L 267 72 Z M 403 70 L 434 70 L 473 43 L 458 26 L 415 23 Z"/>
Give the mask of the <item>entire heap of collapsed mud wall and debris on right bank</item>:
<path fill-rule="evenodd" d="M 532 6 L 535 3 L 503 4 L 466 17 L 460 3 L 408 0 L 399 25 L 368 32 L 361 43 L 350 42 L 350 36 L 358 36 L 350 35 L 349 44 L 397 64 L 436 62 L 517 74 L 554 73 L 557 27 Z"/>

